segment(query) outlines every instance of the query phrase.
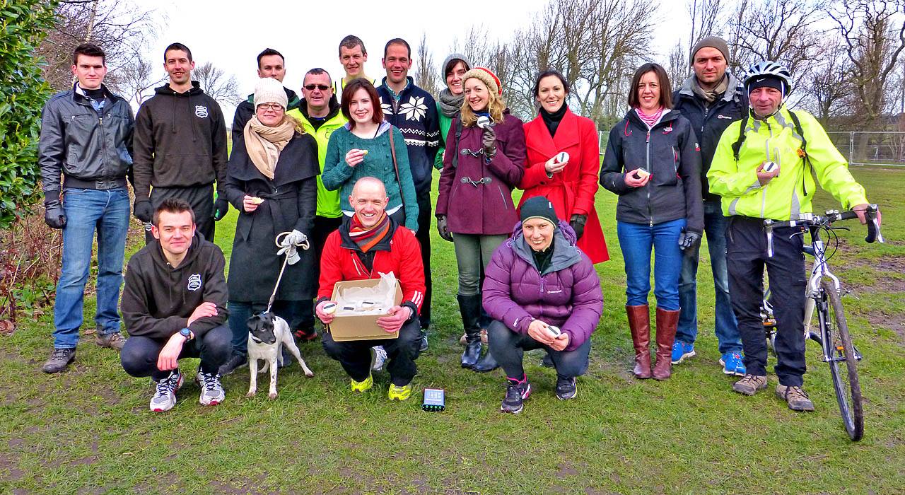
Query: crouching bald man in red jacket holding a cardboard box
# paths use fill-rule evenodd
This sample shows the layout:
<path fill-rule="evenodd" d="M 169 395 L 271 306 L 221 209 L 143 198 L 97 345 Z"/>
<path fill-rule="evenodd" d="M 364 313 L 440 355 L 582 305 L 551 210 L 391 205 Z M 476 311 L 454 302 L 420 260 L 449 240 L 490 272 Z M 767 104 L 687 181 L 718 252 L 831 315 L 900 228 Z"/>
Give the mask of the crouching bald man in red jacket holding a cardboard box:
<path fill-rule="evenodd" d="M 383 346 L 389 358 L 386 366 L 392 385 L 390 400 L 404 401 L 412 395 L 412 378 L 417 371 L 414 360 L 421 343 L 421 325 L 417 319 L 424 302 L 424 264 L 421 246 L 414 233 L 396 224 L 386 214 L 384 183 L 375 177 L 362 177 L 352 188 L 349 203 L 355 210 L 348 225 L 330 233 L 320 255 L 320 289 L 315 312 L 329 325 L 333 312 L 325 312 L 338 281 L 377 279 L 380 273 L 395 275 L 402 287 L 403 303 L 390 308 L 377 325 L 386 333 L 399 331 L 399 338 L 337 342 L 328 332 L 323 335 L 324 350 L 339 361 L 352 379 L 352 390 L 364 392 L 374 385 L 371 376 L 371 346 Z"/>

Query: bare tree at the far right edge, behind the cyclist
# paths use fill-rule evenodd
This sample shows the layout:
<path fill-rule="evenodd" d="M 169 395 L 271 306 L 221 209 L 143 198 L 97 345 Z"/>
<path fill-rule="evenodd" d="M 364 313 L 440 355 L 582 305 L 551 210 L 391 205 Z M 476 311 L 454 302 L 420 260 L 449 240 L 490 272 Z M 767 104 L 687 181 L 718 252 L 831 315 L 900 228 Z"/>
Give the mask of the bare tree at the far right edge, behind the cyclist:
<path fill-rule="evenodd" d="M 882 129 L 896 63 L 905 49 L 905 2 L 846 1 L 830 13 L 852 62 L 857 112 L 866 129 Z"/>

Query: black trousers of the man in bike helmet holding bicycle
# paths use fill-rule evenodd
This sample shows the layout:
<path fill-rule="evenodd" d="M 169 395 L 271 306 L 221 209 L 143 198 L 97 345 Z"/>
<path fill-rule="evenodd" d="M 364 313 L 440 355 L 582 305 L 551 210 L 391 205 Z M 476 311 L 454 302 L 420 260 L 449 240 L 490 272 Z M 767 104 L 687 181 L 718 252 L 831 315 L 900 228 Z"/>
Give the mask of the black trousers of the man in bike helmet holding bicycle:
<path fill-rule="evenodd" d="M 764 268 L 776 316 L 776 376 L 785 386 L 801 386 L 805 376 L 805 254 L 801 229 L 773 230 L 767 256 L 763 220 L 733 216 L 726 231 L 729 298 L 738 319 L 748 374 L 767 375 L 767 338 L 760 317 Z"/>

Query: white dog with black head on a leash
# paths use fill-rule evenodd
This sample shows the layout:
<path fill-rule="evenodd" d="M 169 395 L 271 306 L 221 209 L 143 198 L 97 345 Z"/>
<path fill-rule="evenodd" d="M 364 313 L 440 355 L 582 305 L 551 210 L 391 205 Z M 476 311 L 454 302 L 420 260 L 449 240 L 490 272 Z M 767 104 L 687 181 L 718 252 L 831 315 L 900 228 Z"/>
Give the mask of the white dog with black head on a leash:
<path fill-rule="evenodd" d="M 258 392 L 258 360 L 264 362 L 260 373 L 271 370 L 271 389 L 267 395 L 271 399 L 277 398 L 277 363 L 282 364 L 282 347 L 286 346 L 292 356 L 299 360 L 305 376 L 314 376 L 305 360 L 301 358 L 299 347 L 295 345 L 292 332 L 285 319 L 281 319 L 272 312 L 264 312 L 248 319 L 248 368 L 251 375 L 251 383 L 248 386 L 246 396 L 253 397 Z"/>

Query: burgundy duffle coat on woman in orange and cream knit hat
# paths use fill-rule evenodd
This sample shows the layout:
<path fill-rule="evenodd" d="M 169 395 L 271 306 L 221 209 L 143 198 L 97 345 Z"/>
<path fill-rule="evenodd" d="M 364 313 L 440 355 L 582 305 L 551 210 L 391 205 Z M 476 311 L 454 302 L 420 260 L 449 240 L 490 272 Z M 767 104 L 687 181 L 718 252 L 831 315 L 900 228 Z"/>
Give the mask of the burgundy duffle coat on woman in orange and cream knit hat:
<path fill-rule="evenodd" d="M 459 118 L 452 119 L 443 153 L 443 171 L 440 173 L 437 206 L 434 214 L 446 215 L 452 233 L 492 235 L 510 233 L 512 224 L 519 221 L 512 204 L 512 188 L 518 186 L 525 175 L 525 131 L 519 118 L 509 110 L 503 113 L 503 121 L 493 126 L 497 135 L 497 154 L 490 163 L 483 153 L 477 157 L 463 150 L 475 152 L 481 146 L 482 129 L 476 126 L 462 128 L 459 146 L 455 145 L 455 129 Z M 458 156 L 457 167 L 452 167 L 452 157 Z M 481 182 L 483 179 L 483 182 Z"/>

